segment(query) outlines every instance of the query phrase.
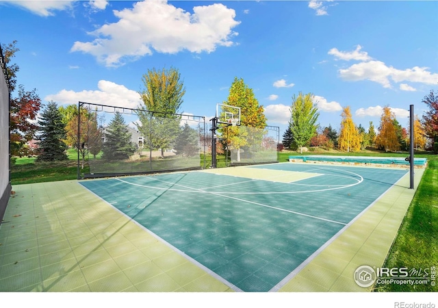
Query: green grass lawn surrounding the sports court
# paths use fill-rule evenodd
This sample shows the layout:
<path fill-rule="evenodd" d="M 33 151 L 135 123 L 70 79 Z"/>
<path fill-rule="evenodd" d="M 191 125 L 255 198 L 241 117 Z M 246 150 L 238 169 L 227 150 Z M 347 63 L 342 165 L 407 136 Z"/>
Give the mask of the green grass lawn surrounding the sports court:
<path fill-rule="evenodd" d="M 381 153 L 365 151 L 361 153 L 343 153 L 339 151 L 310 151 L 297 153 L 283 151 L 280 162 L 287 162 L 291 155 L 351 155 L 407 157 L 407 153 Z M 25 183 L 63 181 L 77 179 L 77 153 L 68 151 L 69 159 L 64 162 L 35 162 L 35 158 L 17 158 L 11 170 L 12 186 Z M 426 272 L 430 277 L 430 268 L 438 266 L 438 155 L 415 153 L 415 157 L 428 159 L 428 167 L 402 222 L 398 236 L 387 255 L 384 267 L 408 268 L 408 270 Z M 205 157 L 207 166 L 211 164 L 211 155 Z M 201 164 L 204 159 L 202 157 Z M 218 155 L 218 168 L 226 166 L 224 155 Z M 13 188 L 12 188 L 13 189 Z M 424 272 L 426 270 L 426 272 Z M 376 285 L 376 292 L 431 292 L 438 287 L 430 285 Z"/>

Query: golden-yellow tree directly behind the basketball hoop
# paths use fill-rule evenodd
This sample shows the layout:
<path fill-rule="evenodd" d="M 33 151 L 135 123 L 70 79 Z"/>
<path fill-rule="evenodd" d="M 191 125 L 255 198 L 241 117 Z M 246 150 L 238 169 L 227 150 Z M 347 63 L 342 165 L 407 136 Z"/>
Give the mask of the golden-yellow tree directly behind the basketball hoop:
<path fill-rule="evenodd" d="M 218 133 L 227 145 L 237 151 L 237 162 L 240 162 L 240 152 L 243 146 L 262 144 L 263 129 L 266 127 L 266 116 L 263 105 L 255 98 L 253 89 L 249 88 L 243 78 L 234 77 L 229 90 L 226 105 L 240 107 L 241 127 L 226 127 Z"/>

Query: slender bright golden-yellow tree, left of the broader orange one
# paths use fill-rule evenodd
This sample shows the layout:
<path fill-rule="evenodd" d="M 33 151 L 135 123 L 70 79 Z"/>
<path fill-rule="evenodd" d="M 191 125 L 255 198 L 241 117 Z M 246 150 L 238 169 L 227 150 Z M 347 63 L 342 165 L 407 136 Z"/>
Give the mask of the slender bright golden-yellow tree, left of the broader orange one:
<path fill-rule="evenodd" d="M 350 106 L 342 111 L 341 131 L 339 133 L 339 149 L 341 151 L 359 152 L 361 149 L 361 136 L 352 120 Z"/>

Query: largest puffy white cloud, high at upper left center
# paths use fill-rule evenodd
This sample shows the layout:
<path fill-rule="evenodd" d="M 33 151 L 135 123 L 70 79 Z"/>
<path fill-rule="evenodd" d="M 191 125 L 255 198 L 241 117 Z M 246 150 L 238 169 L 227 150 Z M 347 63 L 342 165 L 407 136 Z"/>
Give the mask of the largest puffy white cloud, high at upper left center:
<path fill-rule="evenodd" d="M 193 53 L 216 50 L 218 46 L 235 44 L 233 27 L 235 10 L 214 3 L 195 6 L 193 14 L 167 3 L 166 0 L 141 1 L 131 9 L 114 10 L 119 18 L 88 34 L 96 38 L 91 42 L 75 42 L 71 51 L 94 55 L 105 66 L 120 66 L 128 60 L 159 53 Z"/>

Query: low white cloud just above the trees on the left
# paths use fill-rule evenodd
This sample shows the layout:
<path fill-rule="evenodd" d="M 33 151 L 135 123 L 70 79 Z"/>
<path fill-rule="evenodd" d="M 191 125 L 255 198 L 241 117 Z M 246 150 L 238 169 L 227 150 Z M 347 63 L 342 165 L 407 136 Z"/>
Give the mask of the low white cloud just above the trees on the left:
<path fill-rule="evenodd" d="M 137 108 L 142 99 L 138 92 L 129 90 L 123 85 L 112 81 L 100 80 L 97 84 L 99 90 L 61 90 L 44 98 L 46 101 L 55 101 L 58 105 L 77 104 L 79 101 L 111 105 L 116 107 Z"/>

